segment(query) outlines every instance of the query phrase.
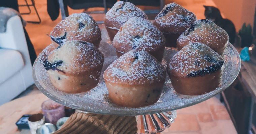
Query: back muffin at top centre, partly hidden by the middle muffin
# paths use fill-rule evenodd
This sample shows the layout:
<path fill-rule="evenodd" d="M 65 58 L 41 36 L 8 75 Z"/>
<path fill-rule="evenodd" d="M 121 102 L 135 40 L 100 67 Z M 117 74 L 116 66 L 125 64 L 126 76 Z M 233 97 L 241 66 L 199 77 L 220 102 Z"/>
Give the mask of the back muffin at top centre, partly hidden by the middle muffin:
<path fill-rule="evenodd" d="M 130 2 L 118 1 L 105 15 L 104 23 L 108 36 L 113 41 L 119 28 L 132 17 L 148 19 L 147 15 Z"/>

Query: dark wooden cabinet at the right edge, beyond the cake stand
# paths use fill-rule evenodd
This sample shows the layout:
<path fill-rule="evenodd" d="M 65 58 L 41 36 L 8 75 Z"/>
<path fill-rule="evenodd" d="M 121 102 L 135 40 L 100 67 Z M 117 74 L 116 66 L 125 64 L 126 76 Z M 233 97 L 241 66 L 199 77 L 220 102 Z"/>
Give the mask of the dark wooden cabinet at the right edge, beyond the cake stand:
<path fill-rule="evenodd" d="M 242 61 L 236 80 L 222 96 L 238 134 L 256 133 L 256 57 Z"/>

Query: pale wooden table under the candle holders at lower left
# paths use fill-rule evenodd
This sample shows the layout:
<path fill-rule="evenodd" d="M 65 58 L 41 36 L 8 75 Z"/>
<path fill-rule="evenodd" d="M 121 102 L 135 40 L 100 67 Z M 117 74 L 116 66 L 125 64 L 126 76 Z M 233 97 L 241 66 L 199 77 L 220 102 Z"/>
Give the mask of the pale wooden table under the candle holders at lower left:
<path fill-rule="evenodd" d="M 24 114 L 41 113 L 41 104 L 44 100 L 49 99 L 39 90 L 37 93 L 26 95 L 12 100 L 0 106 L 0 133 L 1 134 L 28 134 L 29 129 L 18 130 L 15 123 Z"/>

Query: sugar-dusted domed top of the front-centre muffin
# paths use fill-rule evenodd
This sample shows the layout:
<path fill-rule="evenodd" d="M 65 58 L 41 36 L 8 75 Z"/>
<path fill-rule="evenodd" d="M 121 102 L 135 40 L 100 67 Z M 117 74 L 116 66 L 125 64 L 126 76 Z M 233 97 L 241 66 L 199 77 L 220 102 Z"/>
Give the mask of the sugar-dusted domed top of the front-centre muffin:
<path fill-rule="evenodd" d="M 104 80 L 119 84 L 148 84 L 163 82 L 164 67 L 146 51 L 130 51 L 108 66 Z"/>

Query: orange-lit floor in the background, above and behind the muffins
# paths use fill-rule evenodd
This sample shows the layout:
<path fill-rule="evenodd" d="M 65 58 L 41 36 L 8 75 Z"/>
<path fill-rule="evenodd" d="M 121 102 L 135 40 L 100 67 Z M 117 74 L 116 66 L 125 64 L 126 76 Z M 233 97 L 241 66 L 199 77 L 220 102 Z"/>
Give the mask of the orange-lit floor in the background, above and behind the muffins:
<path fill-rule="evenodd" d="M 187 8 L 188 10 L 192 11 L 197 19 L 203 19 L 204 18 L 204 7 L 203 5 L 211 5 L 215 6 L 214 2 L 212 0 L 165 0 L 166 4 L 170 2 L 176 2 L 183 7 Z M 24 0 L 18 0 L 19 4 L 25 4 Z M 30 2 L 30 0 L 28 0 Z M 46 46 L 48 46 L 51 43 L 51 39 L 47 34 L 50 34 L 50 32 L 53 30 L 53 27 L 61 21 L 61 16 L 59 16 L 55 21 L 52 21 L 50 16 L 47 13 L 47 5 L 46 0 L 35 0 L 35 5 L 38 10 L 38 13 L 41 17 L 42 22 L 40 24 L 32 24 L 28 23 L 26 26 L 26 30 L 28 31 L 29 37 L 34 45 L 34 48 L 36 50 L 36 53 L 39 54 Z M 142 7 L 141 9 L 156 9 L 158 7 Z M 89 8 L 89 11 L 93 10 L 103 10 L 103 8 Z M 22 17 L 29 21 L 29 20 L 37 20 L 36 14 L 31 8 L 32 13 L 30 15 L 22 15 Z M 80 10 L 73 10 L 71 8 L 68 8 L 69 14 L 73 13 L 80 13 L 84 9 Z M 27 7 L 20 7 L 20 12 L 27 12 Z M 104 14 L 91 14 L 92 17 L 96 21 L 102 21 L 104 19 Z"/>

